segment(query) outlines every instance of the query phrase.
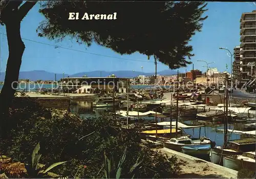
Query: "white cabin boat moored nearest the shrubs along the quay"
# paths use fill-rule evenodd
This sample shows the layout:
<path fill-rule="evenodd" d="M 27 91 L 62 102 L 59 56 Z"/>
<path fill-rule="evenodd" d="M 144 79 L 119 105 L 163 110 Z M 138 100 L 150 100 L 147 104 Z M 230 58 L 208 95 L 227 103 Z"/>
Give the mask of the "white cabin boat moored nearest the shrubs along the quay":
<path fill-rule="evenodd" d="M 166 148 L 181 152 L 182 147 L 196 147 L 200 145 L 211 145 L 209 138 L 202 136 L 200 139 L 191 138 L 191 136 L 181 136 L 179 138 L 172 138 L 169 141 L 164 141 L 163 145 Z"/>

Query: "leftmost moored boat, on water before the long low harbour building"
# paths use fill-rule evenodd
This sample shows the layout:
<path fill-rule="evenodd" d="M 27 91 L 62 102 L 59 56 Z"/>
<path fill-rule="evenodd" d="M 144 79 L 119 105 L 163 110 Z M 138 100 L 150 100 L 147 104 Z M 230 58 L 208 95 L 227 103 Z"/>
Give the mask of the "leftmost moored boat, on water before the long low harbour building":
<path fill-rule="evenodd" d="M 119 99 L 113 100 L 112 97 L 100 97 L 100 98 L 97 98 L 95 102 L 93 102 L 93 107 L 119 106 L 120 103 L 122 102 Z"/>

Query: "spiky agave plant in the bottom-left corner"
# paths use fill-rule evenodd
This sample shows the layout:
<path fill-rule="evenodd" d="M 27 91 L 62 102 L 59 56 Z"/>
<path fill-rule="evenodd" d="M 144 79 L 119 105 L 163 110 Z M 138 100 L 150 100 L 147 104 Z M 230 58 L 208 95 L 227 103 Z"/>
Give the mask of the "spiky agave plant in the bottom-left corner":
<path fill-rule="evenodd" d="M 31 155 L 31 164 L 26 165 L 26 169 L 28 172 L 28 177 L 43 177 L 46 176 L 46 173 L 49 172 L 51 169 L 53 169 L 54 167 L 58 166 L 58 165 L 62 165 L 68 161 L 65 162 L 57 162 L 52 164 L 51 166 L 49 166 L 46 170 L 41 170 L 42 167 L 39 167 L 38 163 L 39 160 L 41 158 L 41 154 L 39 154 L 40 150 L 40 145 L 39 142 L 38 144 L 35 146 L 33 153 Z"/>

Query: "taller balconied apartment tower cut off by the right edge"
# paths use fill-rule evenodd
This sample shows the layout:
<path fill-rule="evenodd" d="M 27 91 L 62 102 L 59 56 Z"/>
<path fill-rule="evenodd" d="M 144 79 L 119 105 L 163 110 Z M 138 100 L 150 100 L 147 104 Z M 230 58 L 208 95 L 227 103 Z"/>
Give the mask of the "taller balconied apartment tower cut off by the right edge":
<path fill-rule="evenodd" d="M 240 19 L 241 81 L 250 83 L 255 79 L 256 61 L 256 10 L 243 13 Z"/>

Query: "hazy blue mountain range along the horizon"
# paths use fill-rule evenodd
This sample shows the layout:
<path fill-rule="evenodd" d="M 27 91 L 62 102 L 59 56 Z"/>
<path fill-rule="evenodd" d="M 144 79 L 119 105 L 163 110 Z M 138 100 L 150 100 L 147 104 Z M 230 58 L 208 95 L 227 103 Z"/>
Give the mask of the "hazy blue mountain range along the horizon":
<path fill-rule="evenodd" d="M 136 72 L 136 71 L 113 71 L 113 72 L 106 72 L 106 71 L 92 71 L 92 72 L 80 72 L 76 74 L 65 74 L 65 77 L 82 77 L 87 75 L 88 77 L 106 77 L 109 75 L 114 74 L 116 77 L 119 78 L 133 78 L 138 75 L 145 75 L 151 76 L 155 73 L 143 73 L 143 72 Z M 158 75 L 174 75 L 177 74 L 177 71 L 174 70 L 164 70 L 157 73 Z M 56 74 L 57 80 L 63 78 L 63 74 Z M 19 72 L 19 79 L 29 79 L 30 81 L 36 80 L 55 80 L 55 73 L 46 72 L 43 70 L 34 70 L 34 71 L 27 71 L 27 72 Z M 0 73 L 0 81 L 5 80 L 5 73 Z"/>

